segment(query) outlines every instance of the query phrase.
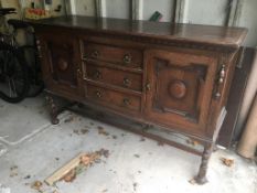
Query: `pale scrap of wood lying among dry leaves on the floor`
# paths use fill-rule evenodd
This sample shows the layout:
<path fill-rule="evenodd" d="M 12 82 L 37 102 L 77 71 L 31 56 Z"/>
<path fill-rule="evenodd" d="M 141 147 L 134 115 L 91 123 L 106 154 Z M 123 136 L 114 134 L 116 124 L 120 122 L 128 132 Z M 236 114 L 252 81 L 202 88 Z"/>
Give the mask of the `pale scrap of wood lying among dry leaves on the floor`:
<path fill-rule="evenodd" d="M 49 185 L 53 185 L 55 182 L 60 181 L 63 176 L 65 176 L 67 173 L 69 173 L 73 169 L 75 169 L 81 163 L 81 158 L 85 153 L 77 154 L 74 159 L 68 161 L 64 167 L 60 168 L 57 171 L 55 171 L 52 175 L 50 175 L 45 183 Z"/>

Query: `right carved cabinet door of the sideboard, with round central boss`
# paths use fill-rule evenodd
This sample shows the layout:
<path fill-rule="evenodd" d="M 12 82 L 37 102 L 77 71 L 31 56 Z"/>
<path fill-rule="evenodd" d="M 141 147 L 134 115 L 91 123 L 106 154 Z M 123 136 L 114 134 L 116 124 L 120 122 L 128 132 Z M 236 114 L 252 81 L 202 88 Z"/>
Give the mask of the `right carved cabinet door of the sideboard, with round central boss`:
<path fill-rule="evenodd" d="M 180 131 L 203 135 L 207 122 L 216 60 L 189 53 L 146 52 L 144 115 Z"/>

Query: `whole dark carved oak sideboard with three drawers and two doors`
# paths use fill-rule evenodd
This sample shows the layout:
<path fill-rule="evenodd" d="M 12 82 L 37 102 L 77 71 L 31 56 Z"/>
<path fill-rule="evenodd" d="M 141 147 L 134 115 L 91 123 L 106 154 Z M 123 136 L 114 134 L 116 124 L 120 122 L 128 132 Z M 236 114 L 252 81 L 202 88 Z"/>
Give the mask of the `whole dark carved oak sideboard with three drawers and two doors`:
<path fill-rule="evenodd" d="M 195 180 L 206 182 L 246 29 L 89 17 L 31 24 L 53 124 L 56 95 L 197 139 Z"/>

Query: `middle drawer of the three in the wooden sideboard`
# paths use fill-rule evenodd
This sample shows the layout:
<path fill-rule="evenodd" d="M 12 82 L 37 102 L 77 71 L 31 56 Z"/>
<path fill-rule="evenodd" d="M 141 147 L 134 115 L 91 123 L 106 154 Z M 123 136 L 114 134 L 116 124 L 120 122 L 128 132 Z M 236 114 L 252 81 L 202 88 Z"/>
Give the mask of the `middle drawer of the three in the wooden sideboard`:
<path fill-rule="evenodd" d="M 86 79 L 93 79 L 127 89 L 142 92 L 142 74 L 97 66 L 90 63 L 85 64 L 84 68 L 84 77 Z"/>

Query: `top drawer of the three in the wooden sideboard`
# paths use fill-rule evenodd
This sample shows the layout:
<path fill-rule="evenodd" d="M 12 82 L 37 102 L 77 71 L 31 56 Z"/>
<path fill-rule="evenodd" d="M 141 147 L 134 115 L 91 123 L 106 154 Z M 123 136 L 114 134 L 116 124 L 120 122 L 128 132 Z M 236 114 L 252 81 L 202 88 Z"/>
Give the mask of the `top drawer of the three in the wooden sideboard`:
<path fill-rule="evenodd" d="M 110 62 L 127 67 L 142 68 L 142 52 L 135 49 L 118 47 L 84 42 L 84 58 Z"/>

